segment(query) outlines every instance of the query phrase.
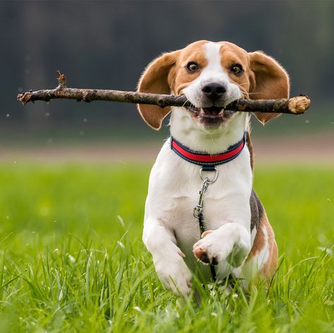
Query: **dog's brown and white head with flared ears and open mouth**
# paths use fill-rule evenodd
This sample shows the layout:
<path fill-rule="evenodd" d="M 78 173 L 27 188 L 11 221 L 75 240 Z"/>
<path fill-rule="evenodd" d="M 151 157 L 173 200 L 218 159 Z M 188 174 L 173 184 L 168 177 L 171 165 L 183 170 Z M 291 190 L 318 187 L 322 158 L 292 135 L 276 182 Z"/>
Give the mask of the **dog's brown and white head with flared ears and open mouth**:
<path fill-rule="evenodd" d="M 248 53 L 230 42 L 194 42 L 185 49 L 163 54 L 149 63 L 138 92 L 185 94 L 192 103 L 183 108 L 200 128 L 218 128 L 235 113 L 229 103 L 241 99 L 280 99 L 289 95 L 289 78 L 270 56 Z M 142 118 L 159 130 L 171 107 L 139 104 Z M 254 113 L 265 123 L 278 114 Z"/>

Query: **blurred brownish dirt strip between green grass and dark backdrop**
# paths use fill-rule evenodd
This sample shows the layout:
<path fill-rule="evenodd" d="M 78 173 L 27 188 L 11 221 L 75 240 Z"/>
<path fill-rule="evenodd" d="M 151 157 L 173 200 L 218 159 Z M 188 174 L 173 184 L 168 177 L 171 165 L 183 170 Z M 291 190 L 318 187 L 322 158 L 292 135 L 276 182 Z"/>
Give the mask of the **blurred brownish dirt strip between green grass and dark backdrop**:
<path fill-rule="evenodd" d="M 256 163 L 334 163 L 334 133 L 253 139 Z M 152 163 L 161 142 L 0 146 L 0 161 L 18 163 Z"/>

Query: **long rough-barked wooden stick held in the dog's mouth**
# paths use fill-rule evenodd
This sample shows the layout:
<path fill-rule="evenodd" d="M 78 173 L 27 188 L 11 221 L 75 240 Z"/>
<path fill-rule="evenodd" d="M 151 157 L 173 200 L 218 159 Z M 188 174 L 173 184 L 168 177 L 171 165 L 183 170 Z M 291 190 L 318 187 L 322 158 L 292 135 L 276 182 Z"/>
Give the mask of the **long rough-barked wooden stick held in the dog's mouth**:
<path fill-rule="evenodd" d="M 23 105 L 30 101 L 51 101 L 51 99 L 76 99 L 77 101 L 118 101 L 124 103 L 154 104 L 165 106 L 191 106 L 183 96 L 144 94 L 140 92 L 121 92 L 119 90 L 105 89 L 76 89 L 66 87 L 66 76 L 58 73 L 58 87 L 43 89 L 36 92 L 18 94 L 18 101 Z M 296 96 L 290 99 L 240 99 L 230 103 L 226 108 L 231 111 L 265 112 L 265 113 L 291 113 L 302 114 L 307 111 L 310 99 L 305 96 Z"/>

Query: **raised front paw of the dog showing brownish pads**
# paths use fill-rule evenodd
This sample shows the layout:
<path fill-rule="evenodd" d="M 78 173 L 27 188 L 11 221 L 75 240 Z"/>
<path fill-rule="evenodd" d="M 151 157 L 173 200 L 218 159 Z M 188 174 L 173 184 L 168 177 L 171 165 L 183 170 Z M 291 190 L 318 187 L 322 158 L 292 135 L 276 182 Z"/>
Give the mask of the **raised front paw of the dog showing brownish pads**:
<path fill-rule="evenodd" d="M 222 239 L 218 232 L 207 230 L 202 234 L 202 239 L 193 246 L 194 256 L 202 263 L 218 265 L 222 260 L 230 256 L 233 243 L 228 239 Z"/>

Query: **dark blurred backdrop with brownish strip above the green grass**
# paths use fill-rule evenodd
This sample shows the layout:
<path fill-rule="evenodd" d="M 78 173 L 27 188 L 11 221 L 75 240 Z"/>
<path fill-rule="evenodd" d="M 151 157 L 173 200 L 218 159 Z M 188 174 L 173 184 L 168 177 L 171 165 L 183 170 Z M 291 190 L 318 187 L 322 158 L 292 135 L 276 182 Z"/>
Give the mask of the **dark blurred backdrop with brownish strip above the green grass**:
<path fill-rule="evenodd" d="M 334 1 L 321 0 L 1 1 L 1 161 L 153 161 L 168 128 L 149 129 L 135 105 L 22 106 L 16 95 L 56 87 L 56 70 L 68 87 L 135 90 L 151 59 L 199 39 L 265 51 L 290 74 L 291 94 L 311 98 L 305 115 L 253 120 L 259 160 L 304 163 L 312 151 L 333 161 L 333 17 Z"/>

